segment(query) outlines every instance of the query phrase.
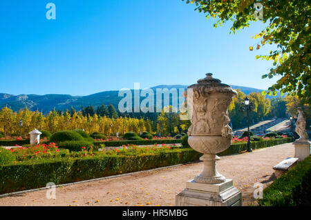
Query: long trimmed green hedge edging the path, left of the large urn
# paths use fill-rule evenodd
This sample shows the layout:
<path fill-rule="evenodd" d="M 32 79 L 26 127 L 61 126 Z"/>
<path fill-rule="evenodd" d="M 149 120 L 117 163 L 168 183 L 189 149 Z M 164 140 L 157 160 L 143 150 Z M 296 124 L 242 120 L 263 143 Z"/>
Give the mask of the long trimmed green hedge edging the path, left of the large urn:
<path fill-rule="evenodd" d="M 157 154 L 95 156 L 0 166 L 0 194 L 41 188 L 48 182 L 71 183 L 198 161 L 201 155 L 191 148 L 183 148 Z"/>

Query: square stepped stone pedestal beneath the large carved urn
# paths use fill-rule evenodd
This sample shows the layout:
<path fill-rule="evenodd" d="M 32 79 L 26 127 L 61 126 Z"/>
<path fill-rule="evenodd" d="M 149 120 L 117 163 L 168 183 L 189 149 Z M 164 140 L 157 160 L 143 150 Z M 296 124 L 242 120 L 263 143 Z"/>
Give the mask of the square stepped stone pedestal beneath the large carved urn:
<path fill-rule="evenodd" d="M 176 195 L 176 206 L 242 206 L 242 193 L 233 186 L 232 179 L 218 184 L 190 180 Z"/>

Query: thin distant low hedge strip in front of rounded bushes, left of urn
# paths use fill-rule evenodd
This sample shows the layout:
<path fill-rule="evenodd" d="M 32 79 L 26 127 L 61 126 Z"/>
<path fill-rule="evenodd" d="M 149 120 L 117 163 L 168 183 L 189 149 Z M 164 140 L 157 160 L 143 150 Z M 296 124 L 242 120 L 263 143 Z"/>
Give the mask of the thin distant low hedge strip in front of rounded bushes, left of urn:
<path fill-rule="evenodd" d="M 181 139 L 164 139 L 164 140 L 126 140 L 126 141 L 95 141 L 95 146 L 100 146 L 103 144 L 106 147 L 120 147 L 126 146 L 127 144 L 135 144 L 135 145 L 153 145 L 155 143 L 162 144 L 162 143 L 181 143 Z"/>

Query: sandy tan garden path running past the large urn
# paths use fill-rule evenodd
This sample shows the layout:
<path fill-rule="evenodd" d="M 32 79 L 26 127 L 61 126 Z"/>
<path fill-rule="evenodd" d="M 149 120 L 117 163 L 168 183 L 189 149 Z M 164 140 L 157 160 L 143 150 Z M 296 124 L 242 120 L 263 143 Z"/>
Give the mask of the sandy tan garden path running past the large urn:
<path fill-rule="evenodd" d="M 277 163 L 294 157 L 292 143 L 225 156 L 218 161 L 218 172 L 243 192 L 243 206 L 255 205 L 254 183 L 264 187 L 276 176 Z M 123 177 L 79 183 L 56 188 L 56 199 L 46 199 L 46 190 L 0 198 L 0 206 L 175 206 L 175 196 L 185 181 L 202 170 L 202 163 L 164 168 Z"/>

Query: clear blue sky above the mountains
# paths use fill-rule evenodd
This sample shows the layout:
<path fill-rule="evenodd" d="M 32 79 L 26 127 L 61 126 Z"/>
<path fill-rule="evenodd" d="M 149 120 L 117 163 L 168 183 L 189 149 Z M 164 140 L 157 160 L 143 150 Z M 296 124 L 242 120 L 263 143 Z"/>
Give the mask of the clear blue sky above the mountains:
<path fill-rule="evenodd" d="M 56 20 L 46 19 L 46 4 Z M 206 72 L 223 83 L 267 89 L 270 48 L 261 21 L 229 34 L 181 0 L 0 2 L 0 92 L 86 95 L 162 84 L 190 85 Z"/>

